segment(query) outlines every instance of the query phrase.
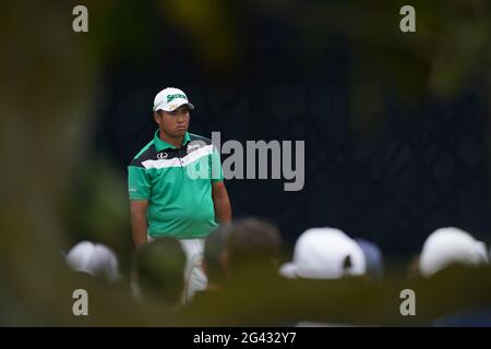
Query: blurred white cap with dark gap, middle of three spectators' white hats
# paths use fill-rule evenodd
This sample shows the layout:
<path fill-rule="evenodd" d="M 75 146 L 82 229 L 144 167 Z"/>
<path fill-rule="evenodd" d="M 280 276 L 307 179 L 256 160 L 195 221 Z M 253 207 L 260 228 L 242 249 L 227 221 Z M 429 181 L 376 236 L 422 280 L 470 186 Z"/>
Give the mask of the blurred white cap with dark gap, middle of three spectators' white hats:
<path fill-rule="evenodd" d="M 367 261 L 358 243 L 339 229 L 312 228 L 295 244 L 294 261 L 279 274 L 287 278 L 337 279 L 366 274 Z"/>

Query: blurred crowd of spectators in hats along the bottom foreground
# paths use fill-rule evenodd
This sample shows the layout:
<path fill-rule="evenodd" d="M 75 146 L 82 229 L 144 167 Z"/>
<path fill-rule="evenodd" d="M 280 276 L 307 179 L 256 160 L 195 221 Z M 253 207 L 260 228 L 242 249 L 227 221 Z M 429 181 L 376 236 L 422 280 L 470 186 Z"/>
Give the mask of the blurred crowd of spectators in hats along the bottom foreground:
<path fill-rule="evenodd" d="M 77 243 L 65 260 L 80 277 L 122 287 L 171 325 L 491 326 L 491 251 L 458 228 L 432 232 L 403 268 L 376 243 L 328 227 L 306 230 L 286 250 L 274 224 L 246 218 L 213 231 L 202 260 L 188 261 L 172 237 L 139 248 L 128 275 L 95 242 Z M 195 267 L 204 268 L 205 287 L 191 277 Z M 404 289 L 415 294 L 409 315 Z"/>

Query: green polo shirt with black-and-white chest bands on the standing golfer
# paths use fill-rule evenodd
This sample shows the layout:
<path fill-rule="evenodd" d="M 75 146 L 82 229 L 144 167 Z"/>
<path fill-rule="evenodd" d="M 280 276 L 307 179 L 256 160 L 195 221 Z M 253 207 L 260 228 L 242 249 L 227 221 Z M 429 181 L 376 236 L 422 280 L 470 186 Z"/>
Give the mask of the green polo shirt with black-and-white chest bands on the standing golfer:
<path fill-rule="evenodd" d="M 212 183 L 223 181 L 212 141 L 185 133 L 181 148 L 164 142 L 159 130 L 128 167 L 130 200 L 148 201 L 148 234 L 204 238 L 215 227 Z"/>

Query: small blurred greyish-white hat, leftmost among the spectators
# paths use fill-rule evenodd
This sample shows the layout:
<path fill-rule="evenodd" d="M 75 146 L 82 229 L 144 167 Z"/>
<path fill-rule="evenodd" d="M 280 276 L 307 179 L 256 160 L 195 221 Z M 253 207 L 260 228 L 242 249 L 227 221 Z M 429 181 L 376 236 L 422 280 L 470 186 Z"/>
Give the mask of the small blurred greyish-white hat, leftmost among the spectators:
<path fill-rule="evenodd" d="M 101 276 L 110 281 L 119 278 L 118 258 L 104 244 L 82 241 L 70 250 L 67 263 L 75 272 Z"/>

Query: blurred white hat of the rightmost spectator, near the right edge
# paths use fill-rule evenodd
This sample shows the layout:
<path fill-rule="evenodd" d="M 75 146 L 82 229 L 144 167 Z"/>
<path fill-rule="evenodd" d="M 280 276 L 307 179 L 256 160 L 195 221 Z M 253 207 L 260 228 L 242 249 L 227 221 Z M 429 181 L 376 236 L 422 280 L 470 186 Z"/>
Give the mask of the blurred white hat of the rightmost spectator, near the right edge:
<path fill-rule="evenodd" d="M 488 263 L 483 242 L 457 228 L 440 228 L 424 241 L 419 256 L 419 270 L 426 277 L 451 264 L 479 265 Z"/>

